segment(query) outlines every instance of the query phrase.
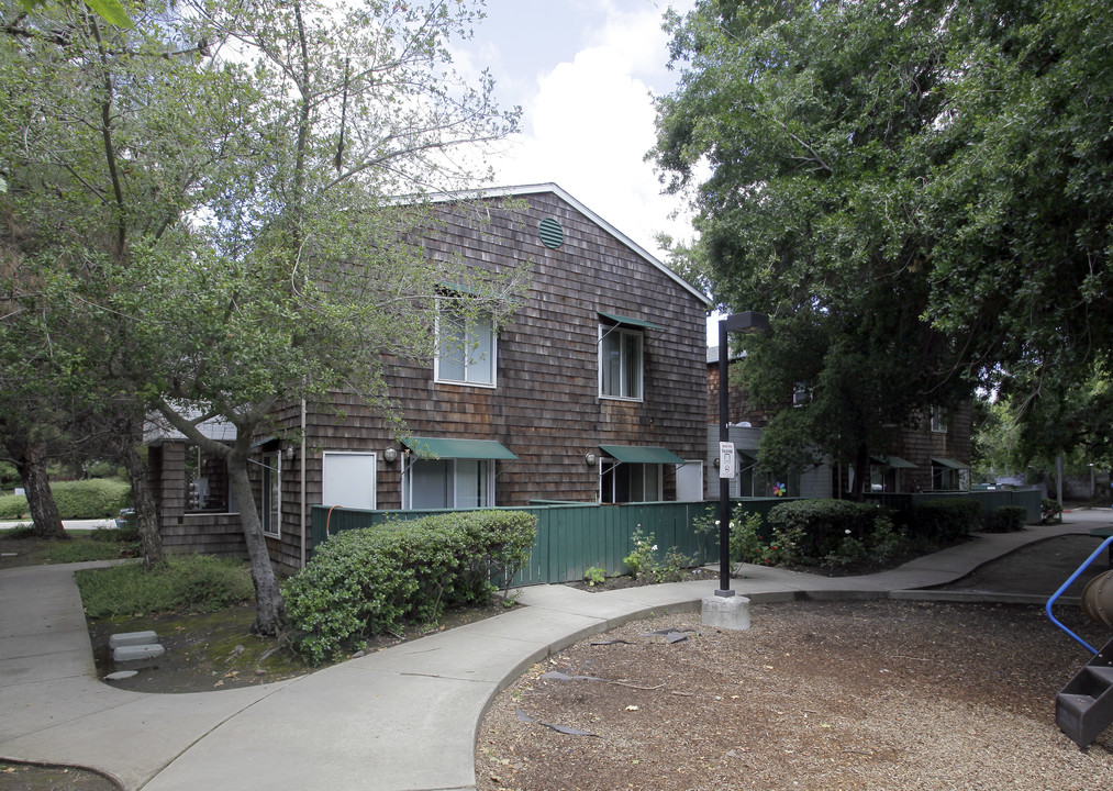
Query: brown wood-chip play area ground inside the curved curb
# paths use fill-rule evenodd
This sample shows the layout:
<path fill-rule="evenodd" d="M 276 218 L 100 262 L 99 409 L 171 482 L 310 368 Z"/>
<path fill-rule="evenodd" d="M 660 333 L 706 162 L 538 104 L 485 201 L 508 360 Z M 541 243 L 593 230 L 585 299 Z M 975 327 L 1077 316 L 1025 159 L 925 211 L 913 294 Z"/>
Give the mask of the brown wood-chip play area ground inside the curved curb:
<path fill-rule="evenodd" d="M 481 723 L 477 788 L 1110 788 L 1113 730 L 1082 752 L 1055 726 L 1055 692 L 1089 656 L 1040 607 L 794 602 L 752 622 L 662 616 L 535 665 Z M 662 629 L 686 639 L 649 635 Z"/>

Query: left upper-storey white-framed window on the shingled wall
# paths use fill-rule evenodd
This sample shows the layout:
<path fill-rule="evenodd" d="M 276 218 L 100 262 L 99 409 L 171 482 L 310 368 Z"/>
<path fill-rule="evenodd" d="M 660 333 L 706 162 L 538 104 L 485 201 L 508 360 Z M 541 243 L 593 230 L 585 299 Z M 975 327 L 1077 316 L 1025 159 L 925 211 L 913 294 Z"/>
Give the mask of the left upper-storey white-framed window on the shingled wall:
<path fill-rule="evenodd" d="M 498 343 L 491 316 L 465 316 L 451 297 L 442 298 L 439 308 L 433 378 L 494 387 Z"/>

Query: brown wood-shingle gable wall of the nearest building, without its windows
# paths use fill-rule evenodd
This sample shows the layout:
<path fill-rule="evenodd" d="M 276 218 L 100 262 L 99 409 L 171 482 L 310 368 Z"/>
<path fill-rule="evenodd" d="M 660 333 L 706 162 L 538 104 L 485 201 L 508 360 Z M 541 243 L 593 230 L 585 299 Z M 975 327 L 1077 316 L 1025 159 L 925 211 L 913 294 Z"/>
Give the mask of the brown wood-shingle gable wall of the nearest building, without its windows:
<path fill-rule="evenodd" d="M 499 332 L 498 387 L 434 383 L 432 362 L 397 360 L 390 367 L 391 397 L 413 436 L 494 439 L 518 456 L 496 462 L 498 505 L 533 500 L 594 502 L 599 497 L 599 445 L 653 445 L 686 459 L 705 455 L 707 424 L 707 301 L 660 263 L 637 248 L 590 209 L 554 185 L 493 190 L 474 198 L 490 216 L 479 224 L 445 204 L 443 230 L 425 239 L 431 258 L 460 255 L 493 271 L 526 263 L 524 303 Z M 500 208 L 506 197 L 512 210 Z M 563 229 L 558 249 L 538 234 L 542 219 Z M 599 312 L 639 318 L 663 329 L 644 333 L 644 399 L 599 397 Z M 339 406 L 343 417 L 335 407 Z M 283 414 L 299 427 L 301 411 Z M 381 415 L 337 395 L 334 404 L 306 405 L 307 506 L 322 503 L 322 454 L 375 453 L 376 506 L 401 506 L 404 449 Z M 383 452 L 400 452 L 386 462 Z M 283 527 L 269 540 L 276 561 L 290 570 L 301 557 L 302 452 L 283 461 Z M 667 500 L 676 475 L 664 465 Z"/>

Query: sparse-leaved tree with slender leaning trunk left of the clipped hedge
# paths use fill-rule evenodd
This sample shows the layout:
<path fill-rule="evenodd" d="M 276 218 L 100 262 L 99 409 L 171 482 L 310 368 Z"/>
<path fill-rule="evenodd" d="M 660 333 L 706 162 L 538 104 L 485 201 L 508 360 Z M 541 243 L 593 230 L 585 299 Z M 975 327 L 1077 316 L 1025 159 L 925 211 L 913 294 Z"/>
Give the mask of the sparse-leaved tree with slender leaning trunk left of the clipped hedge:
<path fill-rule="evenodd" d="M 248 474 L 253 438 L 276 407 L 335 390 L 388 415 L 390 355 L 429 357 L 436 295 L 473 280 L 421 255 L 423 196 L 472 184 L 467 155 L 518 115 L 498 109 L 487 77 L 472 88 L 451 69 L 449 40 L 480 18 L 473 3 L 194 2 L 149 14 L 136 31 L 75 21 L 65 53 L 57 26 L 21 22 L 24 75 L 57 110 L 24 119 L 37 146 L 4 177 L 39 227 L 65 210 L 82 275 L 70 293 L 112 326 L 114 380 L 131 383 L 119 396 L 226 461 L 255 629 L 273 634 L 283 606 Z M 86 277 L 77 260 L 88 258 Z M 466 310 L 513 307 L 512 283 L 471 285 L 484 296 Z M 236 442 L 208 439 L 198 426 L 209 418 L 236 426 Z"/>

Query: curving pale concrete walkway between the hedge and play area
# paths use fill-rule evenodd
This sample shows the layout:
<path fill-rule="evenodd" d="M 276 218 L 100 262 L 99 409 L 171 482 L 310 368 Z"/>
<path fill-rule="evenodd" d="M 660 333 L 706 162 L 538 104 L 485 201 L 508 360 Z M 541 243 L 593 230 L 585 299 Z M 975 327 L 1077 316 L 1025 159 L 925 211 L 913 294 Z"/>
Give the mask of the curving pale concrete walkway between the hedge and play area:
<path fill-rule="evenodd" d="M 733 586 L 754 602 L 913 595 L 900 592 L 1110 524 L 1113 512 L 1076 512 L 1062 525 L 981 534 L 859 577 L 746 566 Z M 0 572 L 0 758 L 88 767 L 145 791 L 473 789 L 475 729 L 496 692 L 585 636 L 650 612 L 698 610 L 718 586 L 528 587 L 519 595 L 525 607 L 299 679 L 160 695 L 98 681 L 73 582 L 75 570 L 92 565 Z"/>

